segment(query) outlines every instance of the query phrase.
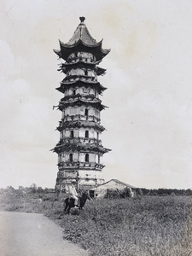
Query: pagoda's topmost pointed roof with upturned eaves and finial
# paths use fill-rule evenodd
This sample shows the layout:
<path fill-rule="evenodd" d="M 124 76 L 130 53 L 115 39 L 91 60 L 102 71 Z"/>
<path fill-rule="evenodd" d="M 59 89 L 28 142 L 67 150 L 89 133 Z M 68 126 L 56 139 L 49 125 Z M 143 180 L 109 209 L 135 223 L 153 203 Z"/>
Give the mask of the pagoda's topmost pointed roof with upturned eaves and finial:
<path fill-rule="evenodd" d="M 68 56 L 73 52 L 83 51 L 95 55 L 96 61 L 102 60 L 105 55 L 108 55 L 110 49 L 102 49 L 102 40 L 96 43 L 96 40 L 90 36 L 90 32 L 84 24 L 85 18 L 80 17 L 80 20 L 81 22 L 79 26 L 67 44 L 62 43 L 59 40 L 61 49 L 54 49 L 55 54 L 67 61 Z"/>

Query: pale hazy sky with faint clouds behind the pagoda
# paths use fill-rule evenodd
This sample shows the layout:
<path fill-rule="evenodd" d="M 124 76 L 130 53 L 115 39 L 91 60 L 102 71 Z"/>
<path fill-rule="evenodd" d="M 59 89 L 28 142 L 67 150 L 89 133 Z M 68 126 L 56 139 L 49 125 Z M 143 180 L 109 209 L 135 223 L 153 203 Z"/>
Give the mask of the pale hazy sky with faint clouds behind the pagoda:
<path fill-rule="evenodd" d="M 192 188 L 192 2 L 1 0 L 0 188 L 54 188 L 65 77 L 53 49 L 79 17 L 111 52 L 100 63 L 103 177 L 147 189 Z"/>

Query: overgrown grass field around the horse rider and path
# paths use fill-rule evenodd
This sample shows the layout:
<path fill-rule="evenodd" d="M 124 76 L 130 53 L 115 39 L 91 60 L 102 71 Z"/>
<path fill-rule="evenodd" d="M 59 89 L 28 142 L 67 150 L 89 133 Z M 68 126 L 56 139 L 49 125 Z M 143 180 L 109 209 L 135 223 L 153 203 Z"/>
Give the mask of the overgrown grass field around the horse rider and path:
<path fill-rule="evenodd" d="M 40 199 L 40 200 L 39 200 Z M 55 195 L 3 196 L 2 210 L 44 212 L 64 238 L 99 256 L 191 256 L 190 196 L 141 196 L 87 201 L 84 211 L 63 214 Z"/>

